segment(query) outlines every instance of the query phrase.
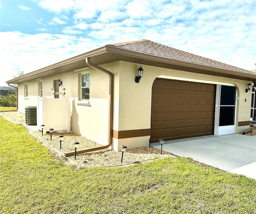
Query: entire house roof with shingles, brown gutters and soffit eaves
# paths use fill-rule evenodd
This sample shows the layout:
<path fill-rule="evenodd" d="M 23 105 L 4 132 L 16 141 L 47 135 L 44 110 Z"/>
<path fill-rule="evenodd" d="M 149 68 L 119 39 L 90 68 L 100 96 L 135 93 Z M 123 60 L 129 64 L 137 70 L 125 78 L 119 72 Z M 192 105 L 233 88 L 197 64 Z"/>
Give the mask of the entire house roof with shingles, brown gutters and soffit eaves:
<path fill-rule="evenodd" d="M 106 45 L 46 68 L 24 74 L 7 81 L 7 83 L 17 84 L 84 68 L 87 67 L 85 62 L 86 57 L 90 57 L 90 61 L 96 65 L 120 60 L 256 82 L 256 74 L 252 71 L 190 54 L 150 40 L 139 40 Z"/>

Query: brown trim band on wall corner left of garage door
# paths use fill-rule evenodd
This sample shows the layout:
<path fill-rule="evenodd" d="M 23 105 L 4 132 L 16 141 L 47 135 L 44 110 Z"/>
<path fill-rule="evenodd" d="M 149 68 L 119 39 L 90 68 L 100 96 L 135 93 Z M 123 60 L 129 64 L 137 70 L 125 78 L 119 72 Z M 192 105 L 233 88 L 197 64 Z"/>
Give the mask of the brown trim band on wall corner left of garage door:
<path fill-rule="evenodd" d="M 138 130 L 126 130 L 126 131 L 113 130 L 113 138 L 116 138 L 116 139 L 135 138 L 135 137 L 142 137 L 142 136 L 150 136 L 150 128 L 138 129 Z"/>

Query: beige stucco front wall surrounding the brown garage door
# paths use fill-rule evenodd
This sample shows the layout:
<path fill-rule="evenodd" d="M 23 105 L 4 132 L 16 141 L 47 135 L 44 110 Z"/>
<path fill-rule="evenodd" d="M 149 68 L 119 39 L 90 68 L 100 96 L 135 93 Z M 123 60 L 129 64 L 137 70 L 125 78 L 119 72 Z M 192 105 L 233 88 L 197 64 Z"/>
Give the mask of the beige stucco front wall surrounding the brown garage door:
<path fill-rule="evenodd" d="M 250 120 L 251 91 L 245 92 L 248 81 L 142 65 L 144 74 L 140 82 L 136 83 L 134 78 L 139 67 L 140 64 L 120 62 L 120 68 L 122 69 L 120 69 L 119 77 L 119 131 L 150 129 L 152 84 L 158 77 L 236 86 L 237 96 L 239 97 L 236 108 L 236 132 L 245 128 L 244 126 L 238 127 L 238 121 Z M 247 102 L 245 102 L 245 99 Z M 140 140 L 138 140 L 139 138 L 120 139 L 118 146 L 115 147 L 119 147 L 121 142 L 126 142 L 132 147 L 136 147 L 136 145 L 148 146 L 149 138 L 150 136 L 145 137 L 143 142 L 141 137 Z"/>

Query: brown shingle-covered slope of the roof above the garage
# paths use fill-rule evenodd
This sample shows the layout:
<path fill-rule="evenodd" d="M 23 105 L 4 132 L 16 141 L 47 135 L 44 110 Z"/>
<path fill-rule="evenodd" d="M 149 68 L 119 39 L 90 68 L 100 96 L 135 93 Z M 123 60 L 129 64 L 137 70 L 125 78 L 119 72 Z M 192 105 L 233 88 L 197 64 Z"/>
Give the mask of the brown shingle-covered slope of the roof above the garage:
<path fill-rule="evenodd" d="M 154 56 L 160 56 L 160 57 L 164 57 L 172 60 L 178 60 L 178 61 L 183 61 L 183 62 L 188 62 L 193 64 L 199 64 L 203 66 L 209 66 L 212 68 L 221 68 L 224 70 L 231 70 L 231 71 L 242 72 L 246 74 L 253 73 L 251 71 L 248 71 L 242 68 L 238 68 L 222 62 L 204 58 L 202 56 L 197 56 L 195 54 L 190 54 L 188 52 L 171 48 L 162 44 L 158 44 L 156 42 L 152 42 L 146 39 L 132 41 L 132 42 L 121 42 L 121 43 L 111 44 L 110 46 L 115 46 L 118 48 L 132 50 L 136 52 L 142 52 L 145 54 L 151 54 Z"/>

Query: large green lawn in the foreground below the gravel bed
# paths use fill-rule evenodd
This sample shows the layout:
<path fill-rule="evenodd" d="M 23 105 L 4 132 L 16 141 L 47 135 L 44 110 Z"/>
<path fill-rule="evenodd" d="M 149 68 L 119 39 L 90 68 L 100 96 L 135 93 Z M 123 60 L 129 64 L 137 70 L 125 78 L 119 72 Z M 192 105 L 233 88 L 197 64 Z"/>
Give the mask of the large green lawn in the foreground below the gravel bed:
<path fill-rule="evenodd" d="M 118 168 L 65 165 L 0 117 L 0 213 L 256 213 L 256 181 L 163 158 Z"/>

